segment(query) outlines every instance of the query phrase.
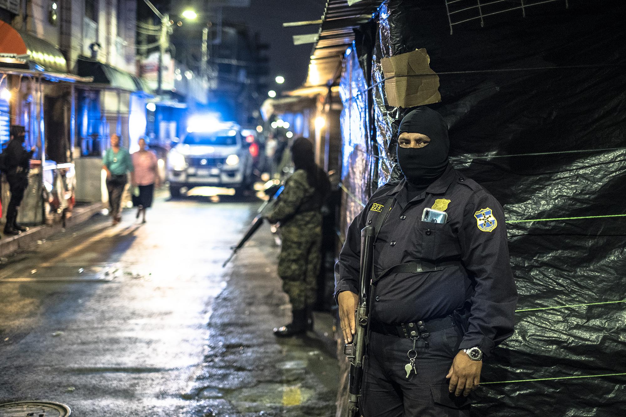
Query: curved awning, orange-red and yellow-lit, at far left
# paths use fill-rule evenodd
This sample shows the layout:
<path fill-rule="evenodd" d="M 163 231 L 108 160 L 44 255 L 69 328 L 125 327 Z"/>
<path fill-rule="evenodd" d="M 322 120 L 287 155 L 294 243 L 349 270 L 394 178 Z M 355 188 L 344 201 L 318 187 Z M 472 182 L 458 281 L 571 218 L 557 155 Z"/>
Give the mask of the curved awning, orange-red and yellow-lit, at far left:
<path fill-rule="evenodd" d="M 9 66 L 22 64 L 24 68 L 31 67 L 28 65 L 31 61 L 36 64 L 31 70 L 68 72 L 67 61 L 56 46 L 3 21 L 0 21 L 0 60 Z"/>

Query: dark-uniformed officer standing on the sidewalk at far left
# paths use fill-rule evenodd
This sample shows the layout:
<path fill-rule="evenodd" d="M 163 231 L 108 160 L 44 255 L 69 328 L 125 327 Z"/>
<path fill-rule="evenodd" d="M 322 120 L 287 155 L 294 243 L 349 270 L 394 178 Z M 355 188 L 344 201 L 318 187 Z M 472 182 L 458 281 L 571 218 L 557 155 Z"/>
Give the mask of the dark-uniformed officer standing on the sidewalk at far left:
<path fill-rule="evenodd" d="M 24 126 L 13 125 L 10 133 L 11 140 L 4 150 L 6 152 L 4 156 L 5 175 L 9 183 L 9 190 L 11 190 L 11 200 L 6 210 L 4 234 L 19 235 L 28 230 L 28 227 L 18 224 L 18 208 L 28 187 L 28 172 L 35 147 L 29 151 L 24 149 L 24 140 L 26 139 Z"/>

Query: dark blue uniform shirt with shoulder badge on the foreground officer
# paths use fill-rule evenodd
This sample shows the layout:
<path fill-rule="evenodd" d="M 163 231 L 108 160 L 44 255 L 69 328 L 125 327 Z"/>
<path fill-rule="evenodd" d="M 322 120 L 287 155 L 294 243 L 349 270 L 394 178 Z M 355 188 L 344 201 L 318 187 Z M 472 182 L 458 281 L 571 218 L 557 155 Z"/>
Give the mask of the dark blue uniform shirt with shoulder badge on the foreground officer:
<path fill-rule="evenodd" d="M 376 209 L 394 196 L 374 246 L 374 274 L 415 260 L 459 262 L 442 270 L 382 278 L 371 306 L 372 319 L 386 324 L 428 321 L 451 314 L 468 300 L 469 328 L 460 349 L 478 346 L 489 354 L 513 333 L 517 302 L 500 203 L 451 165 L 421 195 L 408 201 L 407 193 L 406 180 L 383 185 L 352 221 L 335 265 L 335 297 L 342 291 L 358 294 L 361 229 L 368 215 L 375 224 L 376 216 L 385 211 Z M 445 208 L 447 222 L 423 222 L 426 207 Z"/>

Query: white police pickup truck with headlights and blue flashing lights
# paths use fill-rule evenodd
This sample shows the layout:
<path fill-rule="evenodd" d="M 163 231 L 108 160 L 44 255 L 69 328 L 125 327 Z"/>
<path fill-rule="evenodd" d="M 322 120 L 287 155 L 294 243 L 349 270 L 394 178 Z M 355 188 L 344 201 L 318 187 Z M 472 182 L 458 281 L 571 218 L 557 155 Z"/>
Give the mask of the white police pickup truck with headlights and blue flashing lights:
<path fill-rule="evenodd" d="M 190 123 L 187 135 L 167 158 L 170 195 L 180 197 L 181 188 L 228 187 L 242 190 L 253 182 L 250 143 L 236 123 Z"/>

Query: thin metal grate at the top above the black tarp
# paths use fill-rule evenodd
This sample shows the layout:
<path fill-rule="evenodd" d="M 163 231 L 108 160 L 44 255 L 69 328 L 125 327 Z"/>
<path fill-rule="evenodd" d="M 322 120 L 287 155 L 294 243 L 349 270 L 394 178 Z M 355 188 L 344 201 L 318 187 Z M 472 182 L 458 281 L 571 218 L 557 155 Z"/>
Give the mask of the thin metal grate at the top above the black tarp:
<path fill-rule="evenodd" d="M 526 9 L 540 4 L 558 1 L 569 8 L 568 0 L 444 0 L 448 12 L 450 34 L 455 24 L 480 20 L 480 26 L 485 27 L 485 18 L 494 14 L 519 11 L 526 17 Z"/>

